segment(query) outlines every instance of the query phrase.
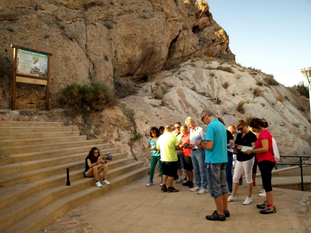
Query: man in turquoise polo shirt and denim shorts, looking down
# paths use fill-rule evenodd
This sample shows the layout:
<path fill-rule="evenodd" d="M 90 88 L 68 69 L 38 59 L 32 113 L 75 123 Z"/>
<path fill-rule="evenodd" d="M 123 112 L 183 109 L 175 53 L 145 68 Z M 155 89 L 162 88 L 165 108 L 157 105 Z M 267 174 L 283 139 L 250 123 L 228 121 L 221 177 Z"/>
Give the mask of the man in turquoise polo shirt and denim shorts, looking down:
<path fill-rule="evenodd" d="M 215 119 L 212 112 L 201 113 L 203 123 L 207 124 L 205 143 L 196 142 L 198 147 L 205 149 L 205 166 L 210 195 L 214 198 L 217 210 L 207 220 L 225 221 L 230 216 L 228 211 L 228 186 L 226 183 L 225 166 L 227 157 L 227 134 L 225 126 Z"/>

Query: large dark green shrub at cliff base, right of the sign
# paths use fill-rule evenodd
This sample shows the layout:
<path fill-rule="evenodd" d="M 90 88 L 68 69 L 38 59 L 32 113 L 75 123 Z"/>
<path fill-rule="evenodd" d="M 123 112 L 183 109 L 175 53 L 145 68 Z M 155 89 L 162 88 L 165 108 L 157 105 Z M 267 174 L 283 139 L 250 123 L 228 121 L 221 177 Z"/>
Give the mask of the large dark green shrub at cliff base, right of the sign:
<path fill-rule="evenodd" d="M 90 112 L 103 110 L 108 100 L 108 92 L 100 83 L 72 83 L 63 88 L 60 96 L 62 106 L 69 108 L 72 113 L 80 113 L 84 119 Z"/>

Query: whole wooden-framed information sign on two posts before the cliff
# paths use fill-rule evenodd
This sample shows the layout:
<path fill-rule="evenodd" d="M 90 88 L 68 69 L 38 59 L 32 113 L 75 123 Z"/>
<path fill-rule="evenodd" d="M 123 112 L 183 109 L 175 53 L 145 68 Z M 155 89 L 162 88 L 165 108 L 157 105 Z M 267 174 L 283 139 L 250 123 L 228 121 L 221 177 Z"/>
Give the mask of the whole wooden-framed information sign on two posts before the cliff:
<path fill-rule="evenodd" d="M 46 110 L 49 110 L 50 57 L 53 54 L 16 45 L 11 48 L 14 49 L 12 110 L 15 110 L 16 82 L 46 85 Z"/>

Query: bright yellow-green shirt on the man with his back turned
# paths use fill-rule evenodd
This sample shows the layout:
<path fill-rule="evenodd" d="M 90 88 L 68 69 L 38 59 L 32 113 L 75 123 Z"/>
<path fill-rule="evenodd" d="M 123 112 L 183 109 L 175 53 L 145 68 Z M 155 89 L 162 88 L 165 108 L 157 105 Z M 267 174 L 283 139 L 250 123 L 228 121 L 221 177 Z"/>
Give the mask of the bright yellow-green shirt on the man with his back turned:
<path fill-rule="evenodd" d="M 179 141 L 175 135 L 164 132 L 157 139 L 157 145 L 160 147 L 161 161 L 174 162 L 178 160 L 175 147 L 179 145 Z"/>

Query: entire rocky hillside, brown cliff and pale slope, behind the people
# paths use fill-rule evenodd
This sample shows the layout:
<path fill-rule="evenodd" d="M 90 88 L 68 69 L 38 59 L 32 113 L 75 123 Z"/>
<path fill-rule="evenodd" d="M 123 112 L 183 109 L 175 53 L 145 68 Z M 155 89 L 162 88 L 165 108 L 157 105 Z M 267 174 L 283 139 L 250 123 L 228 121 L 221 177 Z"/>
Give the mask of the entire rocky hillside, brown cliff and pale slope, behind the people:
<path fill-rule="evenodd" d="M 150 127 L 183 124 L 192 116 L 205 128 L 200 113 L 210 109 L 226 126 L 240 118 L 265 117 L 281 154 L 311 155 L 308 100 L 281 84 L 271 85 L 260 70 L 235 64 L 228 37 L 205 1 L 5 0 L 1 7 L 0 108 L 10 108 L 10 44 L 53 53 L 54 110 L 21 111 L 17 120 L 73 124 L 149 164 Z M 87 126 L 80 116 L 55 110 L 53 100 L 67 84 L 109 85 L 117 76 L 135 82 L 137 93 L 92 113 Z M 17 109 L 39 107 L 44 98 L 42 86 L 17 86 Z M 245 101 L 243 111 L 237 110 L 240 101 Z M 13 119 L 0 115 L 0 120 Z"/>

